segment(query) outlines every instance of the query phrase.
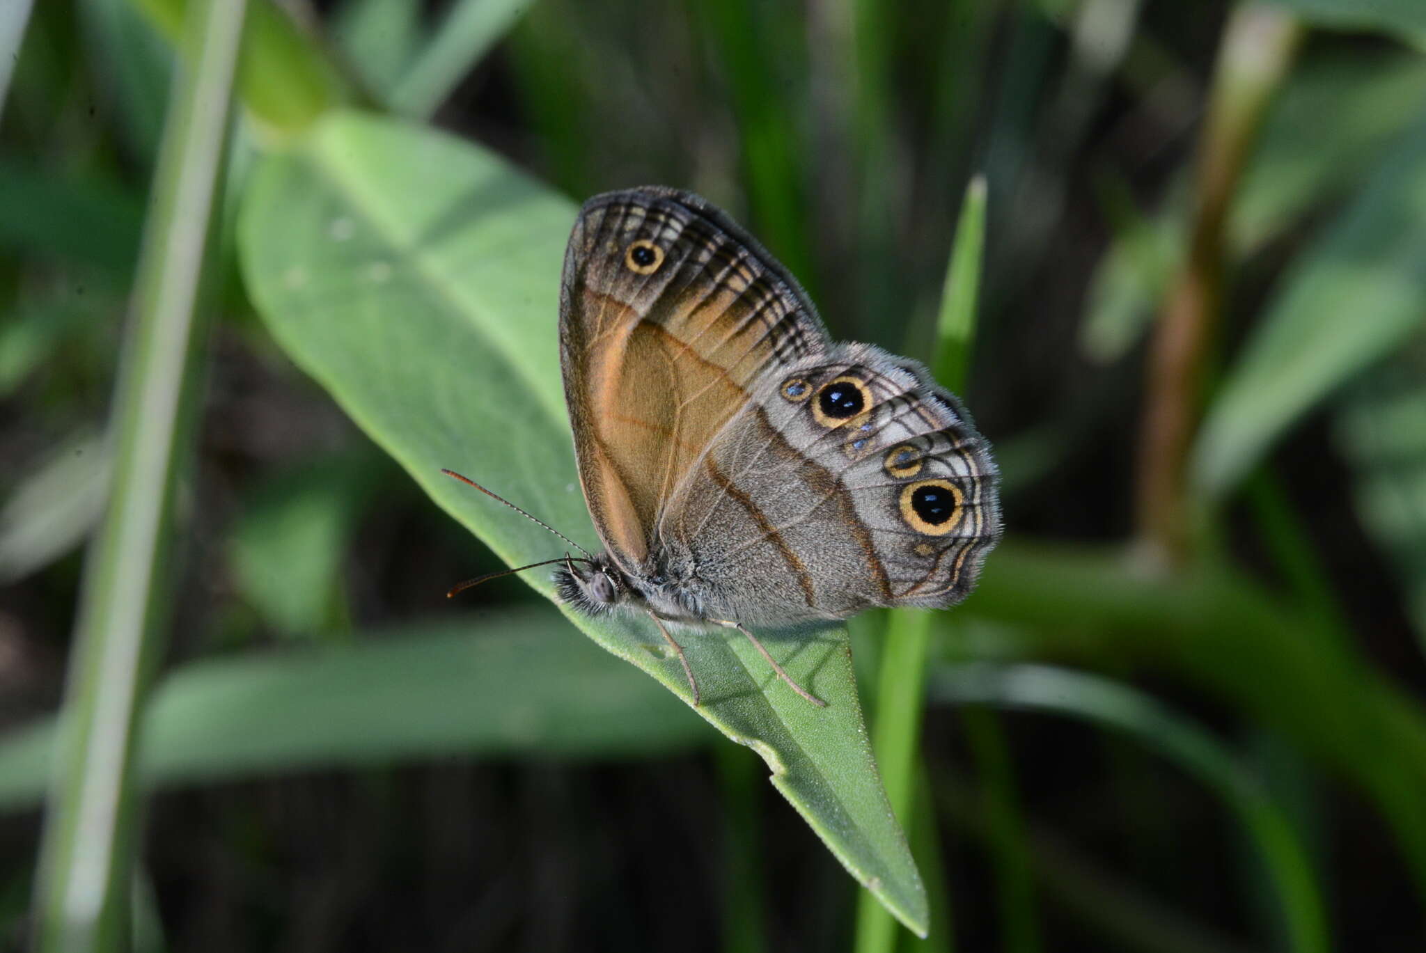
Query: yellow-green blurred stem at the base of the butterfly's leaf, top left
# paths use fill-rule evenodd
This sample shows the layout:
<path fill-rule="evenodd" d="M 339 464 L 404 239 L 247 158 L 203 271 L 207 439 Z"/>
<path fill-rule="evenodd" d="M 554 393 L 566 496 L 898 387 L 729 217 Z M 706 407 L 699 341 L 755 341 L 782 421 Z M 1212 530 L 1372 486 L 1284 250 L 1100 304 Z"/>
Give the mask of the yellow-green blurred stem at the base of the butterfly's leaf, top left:
<path fill-rule="evenodd" d="M 130 0 L 175 39 L 198 0 Z M 247 0 L 242 0 L 244 3 Z M 242 33 L 238 91 L 247 114 L 274 138 L 297 136 L 354 98 L 319 44 L 272 0 L 254 0 Z"/>

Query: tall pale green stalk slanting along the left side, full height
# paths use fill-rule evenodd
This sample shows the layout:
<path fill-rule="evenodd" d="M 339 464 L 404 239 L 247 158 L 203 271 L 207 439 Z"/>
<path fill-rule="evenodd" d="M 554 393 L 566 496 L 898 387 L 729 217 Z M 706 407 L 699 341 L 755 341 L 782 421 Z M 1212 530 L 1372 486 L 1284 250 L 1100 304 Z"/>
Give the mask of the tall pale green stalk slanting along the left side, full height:
<path fill-rule="evenodd" d="M 41 953 L 124 949 L 137 840 L 135 723 L 168 622 L 173 498 L 195 412 L 197 312 L 247 4 L 191 7 L 114 397 L 108 512 L 88 554 L 40 855 Z"/>

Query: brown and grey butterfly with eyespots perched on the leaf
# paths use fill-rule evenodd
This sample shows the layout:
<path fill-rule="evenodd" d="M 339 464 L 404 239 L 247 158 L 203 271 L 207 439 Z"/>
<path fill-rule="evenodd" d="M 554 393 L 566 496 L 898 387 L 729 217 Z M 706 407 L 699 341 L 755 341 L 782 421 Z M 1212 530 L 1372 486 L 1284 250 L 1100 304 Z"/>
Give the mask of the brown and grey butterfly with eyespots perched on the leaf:
<path fill-rule="evenodd" d="M 605 548 L 560 561 L 558 593 L 653 619 L 694 705 L 670 626 L 737 629 L 824 705 L 753 629 L 954 605 L 1000 539 L 998 472 L 961 402 L 915 361 L 833 341 L 787 270 L 692 193 L 585 203 L 559 344 Z"/>

